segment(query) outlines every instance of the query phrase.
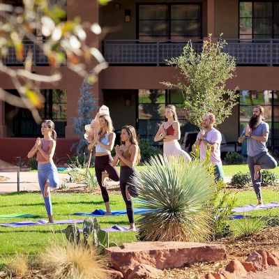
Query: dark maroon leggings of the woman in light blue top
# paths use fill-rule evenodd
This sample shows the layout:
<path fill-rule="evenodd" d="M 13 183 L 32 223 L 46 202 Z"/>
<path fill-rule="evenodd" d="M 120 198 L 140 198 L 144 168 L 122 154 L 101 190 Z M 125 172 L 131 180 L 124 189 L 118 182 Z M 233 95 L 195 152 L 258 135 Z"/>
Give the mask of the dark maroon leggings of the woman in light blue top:
<path fill-rule="evenodd" d="M 117 171 L 116 167 L 112 167 L 111 155 L 95 157 L 95 173 L 97 181 L 100 186 L 104 202 L 109 202 L 109 193 L 107 193 L 107 189 L 102 185 L 102 172 L 104 171 L 107 171 L 110 179 L 113 181 L 119 181 L 119 172 Z"/>

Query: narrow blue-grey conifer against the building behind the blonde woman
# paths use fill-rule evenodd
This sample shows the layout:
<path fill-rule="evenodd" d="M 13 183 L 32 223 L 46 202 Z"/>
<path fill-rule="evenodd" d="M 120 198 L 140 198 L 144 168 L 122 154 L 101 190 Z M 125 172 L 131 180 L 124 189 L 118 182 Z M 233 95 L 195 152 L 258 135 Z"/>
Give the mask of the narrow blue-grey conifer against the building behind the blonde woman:
<path fill-rule="evenodd" d="M 78 100 L 78 117 L 74 118 L 73 125 L 74 132 L 80 137 L 80 142 L 77 143 L 77 153 L 88 153 L 88 142 L 84 140 L 84 126 L 91 123 L 92 112 L 97 109 L 98 105 L 96 105 L 96 100 L 92 96 L 92 86 L 84 80 Z"/>

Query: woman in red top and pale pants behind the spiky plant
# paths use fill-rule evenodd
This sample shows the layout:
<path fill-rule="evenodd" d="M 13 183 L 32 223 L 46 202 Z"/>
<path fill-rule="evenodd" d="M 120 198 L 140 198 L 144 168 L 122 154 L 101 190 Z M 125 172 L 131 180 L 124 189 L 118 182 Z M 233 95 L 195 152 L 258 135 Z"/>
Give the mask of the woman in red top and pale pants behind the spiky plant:
<path fill-rule="evenodd" d="M 154 142 L 158 142 L 159 140 L 164 141 L 164 156 L 182 155 L 186 162 L 190 161 L 191 158 L 189 154 L 186 151 L 183 151 L 179 144 L 181 135 L 180 126 L 174 105 L 167 105 L 167 107 L 165 107 L 165 117 L 167 118 L 167 122 L 160 125 L 160 128 L 154 137 Z"/>

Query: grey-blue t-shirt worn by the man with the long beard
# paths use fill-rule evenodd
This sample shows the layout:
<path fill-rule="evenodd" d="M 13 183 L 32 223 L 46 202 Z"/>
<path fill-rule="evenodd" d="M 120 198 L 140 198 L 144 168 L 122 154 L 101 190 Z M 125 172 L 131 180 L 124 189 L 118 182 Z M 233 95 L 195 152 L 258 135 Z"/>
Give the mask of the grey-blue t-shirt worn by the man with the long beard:
<path fill-rule="evenodd" d="M 256 128 L 252 129 L 251 135 L 257 135 L 258 137 L 262 137 L 263 133 L 269 133 L 269 124 L 262 121 Z M 245 135 L 245 128 L 241 135 Z M 261 152 L 267 152 L 266 142 L 259 142 L 258 140 L 247 138 L 247 154 L 248 156 L 254 157 L 259 155 Z"/>

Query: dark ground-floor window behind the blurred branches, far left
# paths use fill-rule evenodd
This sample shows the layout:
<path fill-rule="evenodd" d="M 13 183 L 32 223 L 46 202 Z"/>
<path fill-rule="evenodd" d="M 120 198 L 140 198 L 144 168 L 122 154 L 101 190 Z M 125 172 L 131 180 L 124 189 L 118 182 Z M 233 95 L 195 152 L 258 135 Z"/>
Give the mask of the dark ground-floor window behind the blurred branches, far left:
<path fill-rule="evenodd" d="M 16 90 L 10 91 L 18 95 Z M 39 110 L 41 119 L 52 119 L 58 137 L 65 137 L 67 124 L 67 94 L 66 90 L 44 89 L 41 91 L 45 97 L 45 104 Z M 40 137 L 40 125 L 32 117 L 31 112 L 26 109 L 13 107 L 6 103 L 6 126 L 8 126 L 10 137 Z"/>

